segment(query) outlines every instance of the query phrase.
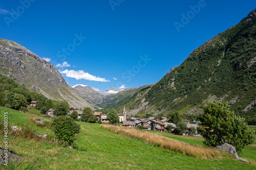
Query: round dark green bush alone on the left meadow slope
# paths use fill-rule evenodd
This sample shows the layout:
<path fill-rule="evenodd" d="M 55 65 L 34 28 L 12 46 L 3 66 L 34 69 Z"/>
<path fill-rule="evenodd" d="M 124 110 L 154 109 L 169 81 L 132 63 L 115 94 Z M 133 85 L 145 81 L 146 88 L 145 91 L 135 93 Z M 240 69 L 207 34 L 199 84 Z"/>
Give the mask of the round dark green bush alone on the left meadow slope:
<path fill-rule="evenodd" d="M 53 132 L 64 145 L 72 145 L 75 134 L 80 133 L 80 125 L 69 116 L 57 116 L 52 120 Z"/>

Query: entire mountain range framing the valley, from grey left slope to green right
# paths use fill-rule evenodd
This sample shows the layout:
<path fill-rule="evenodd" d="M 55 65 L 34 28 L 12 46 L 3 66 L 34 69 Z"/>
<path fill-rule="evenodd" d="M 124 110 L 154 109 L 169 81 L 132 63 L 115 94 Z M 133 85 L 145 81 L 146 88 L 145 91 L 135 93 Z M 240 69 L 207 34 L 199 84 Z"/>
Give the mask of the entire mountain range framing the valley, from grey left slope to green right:
<path fill-rule="evenodd" d="M 256 9 L 196 48 L 156 84 L 103 92 L 89 86 L 72 88 L 53 64 L 5 39 L 0 39 L 0 74 L 76 108 L 97 105 L 121 112 L 125 105 L 127 114 L 199 114 L 206 103 L 222 100 L 249 122 L 256 119 L 255 46 Z"/>

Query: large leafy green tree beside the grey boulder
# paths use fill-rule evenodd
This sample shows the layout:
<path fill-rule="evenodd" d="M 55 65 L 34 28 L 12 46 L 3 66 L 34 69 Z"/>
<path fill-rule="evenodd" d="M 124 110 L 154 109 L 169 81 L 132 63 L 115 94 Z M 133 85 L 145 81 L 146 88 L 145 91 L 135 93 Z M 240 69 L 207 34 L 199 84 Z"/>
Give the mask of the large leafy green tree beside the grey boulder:
<path fill-rule="evenodd" d="M 226 142 L 233 145 L 238 153 L 243 152 L 245 145 L 254 141 L 244 118 L 230 111 L 227 102 L 211 102 L 203 108 L 204 113 L 199 117 L 200 131 L 210 147 Z M 204 128 L 208 127 L 208 128 Z"/>

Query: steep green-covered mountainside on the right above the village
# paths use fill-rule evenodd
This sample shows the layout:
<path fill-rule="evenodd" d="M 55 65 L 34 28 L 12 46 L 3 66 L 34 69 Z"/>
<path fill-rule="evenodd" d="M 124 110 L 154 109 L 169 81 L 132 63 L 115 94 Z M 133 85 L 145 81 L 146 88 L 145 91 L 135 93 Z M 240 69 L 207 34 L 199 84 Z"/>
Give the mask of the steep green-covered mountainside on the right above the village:
<path fill-rule="evenodd" d="M 205 103 L 222 100 L 255 122 L 256 10 L 191 52 L 151 89 L 135 94 L 125 105 L 127 114 L 202 113 Z M 171 69 L 172 70 L 172 69 Z"/>

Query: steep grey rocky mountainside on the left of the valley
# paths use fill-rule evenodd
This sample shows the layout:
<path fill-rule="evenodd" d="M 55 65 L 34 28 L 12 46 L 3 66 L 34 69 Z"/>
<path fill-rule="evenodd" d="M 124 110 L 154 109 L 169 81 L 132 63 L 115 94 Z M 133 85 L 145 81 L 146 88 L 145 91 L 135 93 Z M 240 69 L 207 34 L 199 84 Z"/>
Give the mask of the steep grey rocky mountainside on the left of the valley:
<path fill-rule="evenodd" d="M 0 39 L 0 74 L 14 79 L 18 84 L 25 84 L 49 99 L 65 100 L 76 108 L 94 108 L 92 103 L 67 84 L 51 63 L 14 41 Z"/>

